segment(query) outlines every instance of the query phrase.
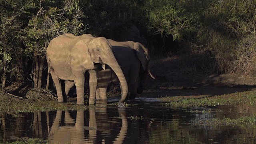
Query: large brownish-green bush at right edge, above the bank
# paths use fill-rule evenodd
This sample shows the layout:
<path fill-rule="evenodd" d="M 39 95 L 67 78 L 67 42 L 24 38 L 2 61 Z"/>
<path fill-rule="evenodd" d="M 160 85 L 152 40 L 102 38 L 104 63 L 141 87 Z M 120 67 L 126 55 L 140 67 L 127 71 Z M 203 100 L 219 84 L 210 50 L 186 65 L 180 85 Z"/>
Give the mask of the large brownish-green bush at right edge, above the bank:
<path fill-rule="evenodd" d="M 256 1 L 215 0 L 198 38 L 208 44 L 220 72 L 254 73 Z"/>

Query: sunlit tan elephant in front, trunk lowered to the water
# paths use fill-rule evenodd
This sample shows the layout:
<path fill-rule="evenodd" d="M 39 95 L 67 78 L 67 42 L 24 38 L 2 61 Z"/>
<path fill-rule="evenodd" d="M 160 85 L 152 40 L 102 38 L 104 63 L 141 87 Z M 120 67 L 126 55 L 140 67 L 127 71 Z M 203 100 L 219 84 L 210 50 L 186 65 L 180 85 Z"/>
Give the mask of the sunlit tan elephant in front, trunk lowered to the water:
<path fill-rule="evenodd" d="M 109 65 L 120 80 L 123 104 L 128 93 L 128 86 L 124 74 L 114 57 L 111 44 L 106 38 L 94 38 L 91 35 L 74 36 L 64 34 L 54 38 L 46 50 L 46 59 L 56 86 L 58 102 L 66 102 L 66 95 L 70 88 L 76 85 L 77 104 L 84 104 L 84 73 L 89 70 L 89 86 L 97 84 L 96 63 Z M 65 81 L 65 93 L 62 94 L 61 80 Z M 94 104 L 96 87 L 90 87 L 89 104 Z M 64 96 L 64 97 L 63 97 Z"/>

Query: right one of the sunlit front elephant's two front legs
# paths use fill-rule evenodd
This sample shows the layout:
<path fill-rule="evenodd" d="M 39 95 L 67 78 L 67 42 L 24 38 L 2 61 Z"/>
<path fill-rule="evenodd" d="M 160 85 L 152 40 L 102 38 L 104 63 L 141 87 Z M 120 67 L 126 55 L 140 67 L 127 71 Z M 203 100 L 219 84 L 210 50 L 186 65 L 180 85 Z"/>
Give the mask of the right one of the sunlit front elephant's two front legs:
<path fill-rule="evenodd" d="M 97 72 L 96 70 L 89 70 L 89 74 L 89 104 L 94 104 L 97 89 Z"/>

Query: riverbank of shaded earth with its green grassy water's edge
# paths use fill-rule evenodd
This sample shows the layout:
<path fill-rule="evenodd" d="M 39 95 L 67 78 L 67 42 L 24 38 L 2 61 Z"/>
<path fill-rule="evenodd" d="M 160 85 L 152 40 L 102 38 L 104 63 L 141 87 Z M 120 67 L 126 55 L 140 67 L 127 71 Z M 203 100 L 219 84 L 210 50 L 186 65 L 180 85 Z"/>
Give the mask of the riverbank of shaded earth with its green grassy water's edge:
<path fill-rule="evenodd" d="M 241 100 L 255 103 L 256 79 L 253 76 L 200 73 L 178 57 L 152 59 L 150 67 L 156 79 L 150 79 L 146 89 L 138 97 L 161 98 L 172 106 L 174 106 L 173 102 L 177 106 L 237 104 Z M 58 103 L 56 99 L 45 100 L 44 94 L 52 93 L 52 96 L 56 96 L 56 94 L 45 90 L 35 92 L 28 85 L 24 86 L 20 83 L 13 83 L 6 89 L 9 94 L 1 93 L 2 96 L 0 96 L 1 112 L 18 113 L 88 108 L 87 104 L 76 106 L 75 97 L 69 97 L 67 103 Z M 108 95 L 119 97 L 119 93 L 118 89 L 112 89 Z M 35 95 L 40 95 L 38 100 L 28 99 Z M 88 96 L 86 95 L 86 97 Z"/>

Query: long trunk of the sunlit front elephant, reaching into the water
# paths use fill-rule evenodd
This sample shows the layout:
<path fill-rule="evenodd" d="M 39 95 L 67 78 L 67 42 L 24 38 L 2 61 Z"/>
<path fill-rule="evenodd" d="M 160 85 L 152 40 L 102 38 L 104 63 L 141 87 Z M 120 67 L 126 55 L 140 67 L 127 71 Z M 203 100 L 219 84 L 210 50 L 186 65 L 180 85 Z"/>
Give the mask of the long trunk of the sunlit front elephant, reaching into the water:
<path fill-rule="evenodd" d="M 116 76 L 120 81 L 122 96 L 121 96 L 121 99 L 119 100 L 119 106 L 123 106 L 120 104 L 123 104 L 124 100 L 126 100 L 126 96 L 128 94 L 128 85 L 124 77 L 124 73 L 122 72 L 118 62 L 116 61 L 116 58 L 114 57 L 114 54 L 112 53 L 112 51 L 109 52 L 108 58 L 110 59 L 109 63 L 105 63 L 105 64 L 107 64 L 108 66 L 110 66 L 110 68 L 112 68 L 112 70 L 116 73 Z"/>

